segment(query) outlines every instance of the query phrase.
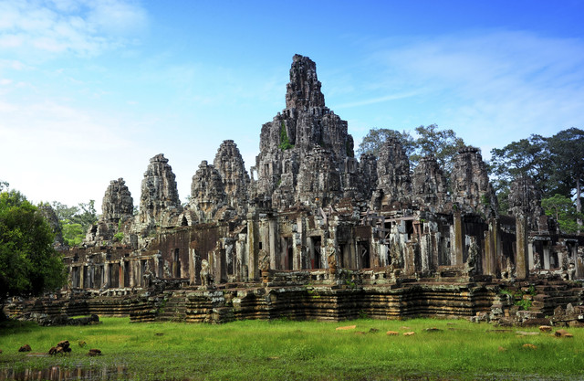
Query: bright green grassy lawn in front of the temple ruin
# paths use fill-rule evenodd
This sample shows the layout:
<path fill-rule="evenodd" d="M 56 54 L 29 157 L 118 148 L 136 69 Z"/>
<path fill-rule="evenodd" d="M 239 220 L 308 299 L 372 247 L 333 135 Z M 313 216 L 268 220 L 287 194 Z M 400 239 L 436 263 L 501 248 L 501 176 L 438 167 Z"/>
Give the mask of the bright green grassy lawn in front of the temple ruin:
<path fill-rule="evenodd" d="M 107 367 L 123 368 L 124 378 L 193 380 L 580 379 L 584 372 L 582 329 L 568 329 L 573 338 L 556 338 L 516 333 L 537 333 L 537 328 L 492 332 L 492 325 L 464 320 L 102 322 L 83 327 L 5 324 L 0 328 L 0 369 Z M 355 329 L 336 330 L 353 324 Z M 425 330 L 431 327 L 439 331 Z M 406 332 L 415 334 L 404 336 Z M 17 352 L 30 344 L 33 353 L 47 353 L 61 340 L 71 343 L 69 355 Z M 80 341 L 87 346 L 81 348 Z M 103 355 L 89 357 L 89 348 L 99 348 Z"/>

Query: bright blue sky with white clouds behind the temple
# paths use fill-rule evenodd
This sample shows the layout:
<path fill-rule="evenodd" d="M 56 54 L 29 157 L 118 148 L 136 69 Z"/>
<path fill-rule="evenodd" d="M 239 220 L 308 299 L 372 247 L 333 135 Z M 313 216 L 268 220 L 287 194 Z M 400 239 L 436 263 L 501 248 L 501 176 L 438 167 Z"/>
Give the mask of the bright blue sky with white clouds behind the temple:
<path fill-rule="evenodd" d="M 184 200 L 225 139 L 254 164 L 294 54 L 356 143 L 436 123 L 488 158 L 584 127 L 582 15 L 568 0 L 0 0 L 0 180 L 100 205 L 124 177 L 138 205 L 164 153 Z"/>

